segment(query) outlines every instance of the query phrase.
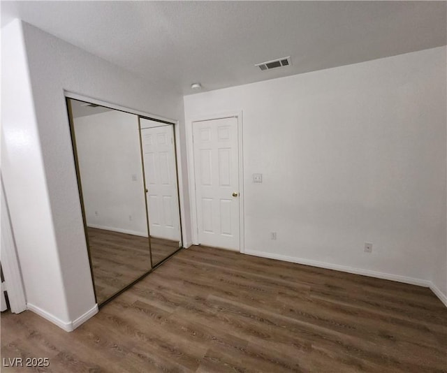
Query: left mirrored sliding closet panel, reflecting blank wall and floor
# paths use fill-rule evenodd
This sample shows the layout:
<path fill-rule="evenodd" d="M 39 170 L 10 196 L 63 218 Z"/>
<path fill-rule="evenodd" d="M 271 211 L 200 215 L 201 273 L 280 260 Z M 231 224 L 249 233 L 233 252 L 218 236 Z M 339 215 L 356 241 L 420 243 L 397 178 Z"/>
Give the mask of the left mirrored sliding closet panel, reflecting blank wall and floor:
<path fill-rule="evenodd" d="M 98 304 L 151 270 L 138 116 L 67 99 Z"/>

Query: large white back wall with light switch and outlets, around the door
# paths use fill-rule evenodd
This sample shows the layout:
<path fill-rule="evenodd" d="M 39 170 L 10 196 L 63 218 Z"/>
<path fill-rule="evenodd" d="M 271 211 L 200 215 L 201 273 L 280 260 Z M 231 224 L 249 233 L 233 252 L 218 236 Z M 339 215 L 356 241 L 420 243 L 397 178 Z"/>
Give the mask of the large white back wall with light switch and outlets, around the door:
<path fill-rule="evenodd" d="M 195 118 L 243 112 L 246 252 L 435 280 L 446 249 L 445 47 L 185 96 L 184 109 L 189 133 Z"/>

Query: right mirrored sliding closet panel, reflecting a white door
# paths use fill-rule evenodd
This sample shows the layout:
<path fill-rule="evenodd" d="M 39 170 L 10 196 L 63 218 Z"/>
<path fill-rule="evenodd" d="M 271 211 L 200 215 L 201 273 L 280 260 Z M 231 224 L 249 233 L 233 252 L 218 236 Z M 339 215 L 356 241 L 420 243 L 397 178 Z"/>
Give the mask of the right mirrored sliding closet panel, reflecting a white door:
<path fill-rule="evenodd" d="M 173 124 L 140 119 L 154 265 L 182 247 Z"/>

